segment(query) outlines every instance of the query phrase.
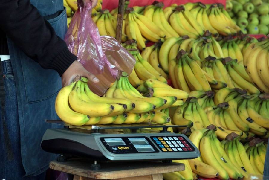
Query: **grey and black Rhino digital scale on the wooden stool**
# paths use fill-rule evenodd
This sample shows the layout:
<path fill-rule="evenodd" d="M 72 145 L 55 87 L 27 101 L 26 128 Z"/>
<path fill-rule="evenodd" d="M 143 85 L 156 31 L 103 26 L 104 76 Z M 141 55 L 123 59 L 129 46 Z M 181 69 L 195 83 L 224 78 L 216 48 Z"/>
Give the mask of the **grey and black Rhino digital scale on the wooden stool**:
<path fill-rule="evenodd" d="M 69 126 L 61 120 L 47 123 L 64 128 L 47 129 L 41 148 L 60 155 L 74 155 L 96 161 L 163 161 L 193 159 L 200 152 L 184 134 L 171 133 L 165 124 L 121 124 Z M 148 132 L 145 128 L 162 128 Z M 96 163 L 95 163 L 96 164 Z"/>

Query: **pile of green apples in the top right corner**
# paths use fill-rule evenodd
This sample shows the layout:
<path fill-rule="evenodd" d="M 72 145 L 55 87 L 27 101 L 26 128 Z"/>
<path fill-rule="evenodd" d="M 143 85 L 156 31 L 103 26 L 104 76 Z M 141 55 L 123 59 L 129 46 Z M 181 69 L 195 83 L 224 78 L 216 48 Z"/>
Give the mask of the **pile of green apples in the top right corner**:
<path fill-rule="evenodd" d="M 269 3 L 267 0 L 227 0 L 226 10 L 247 34 L 269 33 Z"/>

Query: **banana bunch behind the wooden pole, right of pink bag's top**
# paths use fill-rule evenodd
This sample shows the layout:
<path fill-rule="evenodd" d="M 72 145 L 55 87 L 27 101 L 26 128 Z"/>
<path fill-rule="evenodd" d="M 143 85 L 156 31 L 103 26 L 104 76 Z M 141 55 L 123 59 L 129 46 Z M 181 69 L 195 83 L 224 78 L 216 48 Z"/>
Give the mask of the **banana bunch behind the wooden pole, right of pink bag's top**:
<path fill-rule="evenodd" d="M 96 23 L 101 36 L 112 36 L 116 38 L 117 19 L 109 13 L 109 10 L 98 12 L 96 15 L 92 16 L 92 19 Z M 125 42 L 128 39 L 127 35 L 124 33 L 124 27 L 123 21 L 121 42 Z"/>

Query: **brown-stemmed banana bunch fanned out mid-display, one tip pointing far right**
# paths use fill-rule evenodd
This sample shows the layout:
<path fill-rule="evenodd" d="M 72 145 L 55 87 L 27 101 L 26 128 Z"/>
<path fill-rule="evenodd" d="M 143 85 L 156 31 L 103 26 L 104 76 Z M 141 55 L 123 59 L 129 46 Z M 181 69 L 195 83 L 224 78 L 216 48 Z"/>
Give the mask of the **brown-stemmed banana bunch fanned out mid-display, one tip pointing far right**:
<path fill-rule="evenodd" d="M 190 91 L 211 91 L 227 86 L 201 69 L 198 63 L 189 58 L 188 53 L 183 49 L 179 51 L 175 59 L 169 62 L 169 75 L 175 88 L 188 93 Z"/>

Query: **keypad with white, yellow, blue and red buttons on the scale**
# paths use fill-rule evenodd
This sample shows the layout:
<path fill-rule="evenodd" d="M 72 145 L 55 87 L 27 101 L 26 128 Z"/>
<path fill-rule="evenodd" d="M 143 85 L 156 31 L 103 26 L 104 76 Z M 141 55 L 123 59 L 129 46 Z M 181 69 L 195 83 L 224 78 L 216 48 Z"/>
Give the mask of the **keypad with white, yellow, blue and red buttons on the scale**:
<path fill-rule="evenodd" d="M 189 152 L 194 151 L 194 147 L 181 136 L 155 136 L 151 137 L 153 142 L 162 152 Z"/>

